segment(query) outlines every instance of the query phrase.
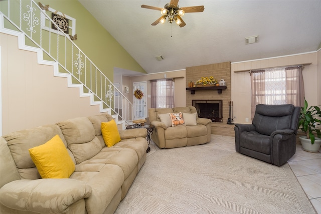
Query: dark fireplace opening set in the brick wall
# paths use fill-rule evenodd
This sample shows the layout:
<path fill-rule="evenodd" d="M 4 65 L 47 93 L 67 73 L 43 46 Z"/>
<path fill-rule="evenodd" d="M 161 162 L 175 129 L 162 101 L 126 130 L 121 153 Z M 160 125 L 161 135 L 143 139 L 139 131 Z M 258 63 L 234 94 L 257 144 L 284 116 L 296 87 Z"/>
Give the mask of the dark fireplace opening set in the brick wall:
<path fill-rule="evenodd" d="M 211 119 L 212 122 L 223 122 L 223 100 L 192 100 L 199 117 Z"/>

